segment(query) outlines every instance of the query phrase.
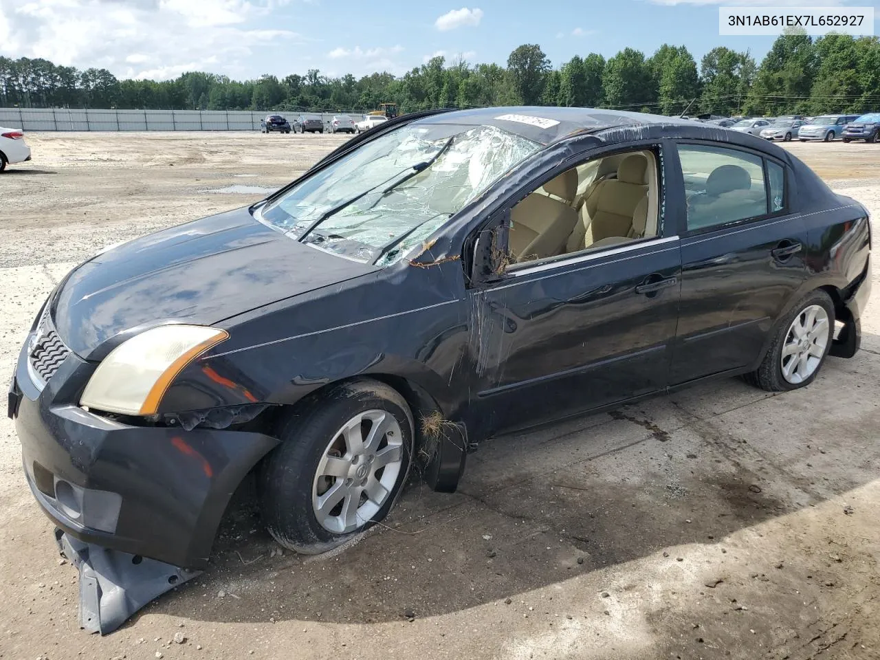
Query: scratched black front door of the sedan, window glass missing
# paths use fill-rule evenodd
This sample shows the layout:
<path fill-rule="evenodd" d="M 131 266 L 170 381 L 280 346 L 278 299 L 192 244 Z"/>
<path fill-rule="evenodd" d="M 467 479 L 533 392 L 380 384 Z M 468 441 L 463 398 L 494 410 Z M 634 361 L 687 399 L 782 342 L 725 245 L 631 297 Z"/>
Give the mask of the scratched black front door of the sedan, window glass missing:
<path fill-rule="evenodd" d="M 530 209 L 537 221 L 533 228 L 557 215 L 570 217 L 549 202 L 530 202 L 532 195 L 548 194 L 547 190 L 564 193 L 554 181 L 560 180 L 565 167 L 555 167 L 517 195 L 500 214 L 504 219 L 488 229 L 501 231 L 503 250 L 514 260 L 502 275 L 477 282 L 469 292 L 477 394 L 473 413 L 482 423 L 490 420 L 494 432 L 607 406 L 666 386 L 678 321 L 681 260 L 678 237 L 674 231 L 666 234 L 660 213 L 665 196 L 661 152 L 658 143 L 641 144 L 598 157 L 613 156 L 624 165 L 610 179 L 612 184 L 604 181 L 598 192 L 591 191 L 600 196 L 598 202 L 590 202 L 591 217 L 585 218 L 590 214 L 583 209 L 583 200 L 549 194 L 573 207 L 582 204 L 578 223 L 594 224 L 598 232 L 599 226 L 620 221 L 615 230 L 620 233 L 627 213 L 640 206 L 639 195 L 650 195 L 651 202 L 641 207 L 650 207 L 654 215 L 641 232 L 590 240 L 588 226 L 581 245 L 568 242 L 561 253 L 539 253 L 533 260 L 517 262 L 510 249 L 523 243 L 521 238 L 510 240 L 517 231 L 517 217 L 524 219 L 517 213 L 517 203 Z M 640 184 L 627 156 L 641 154 L 652 158 L 653 165 L 644 171 Z M 585 160 L 572 161 L 569 168 Z M 584 183 L 577 181 L 577 189 L 583 190 Z M 620 216 L 603 216 L 604 208 L 620 210 Z M 525 222 L 531 221 L 525 218 Z M 558 231 L 546 223 L 545 228 Z"/>

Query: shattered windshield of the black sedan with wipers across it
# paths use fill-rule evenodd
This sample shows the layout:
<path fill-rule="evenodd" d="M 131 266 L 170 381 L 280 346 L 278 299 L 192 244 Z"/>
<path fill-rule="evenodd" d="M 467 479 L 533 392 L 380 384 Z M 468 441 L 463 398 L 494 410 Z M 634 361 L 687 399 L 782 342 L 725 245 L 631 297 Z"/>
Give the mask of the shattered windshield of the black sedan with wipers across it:
<path fill-rule="evenodd" d="M 328 165 L 256 216 L 290 238 L 385 266 L 539 148 L 494 126 L 405 126 Z"/>

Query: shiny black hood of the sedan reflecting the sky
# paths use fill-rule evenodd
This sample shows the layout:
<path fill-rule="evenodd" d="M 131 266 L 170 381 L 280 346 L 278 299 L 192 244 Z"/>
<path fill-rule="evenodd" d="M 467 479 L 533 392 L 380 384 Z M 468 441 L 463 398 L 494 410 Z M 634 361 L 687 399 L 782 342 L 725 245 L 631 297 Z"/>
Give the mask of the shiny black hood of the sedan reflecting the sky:
<path fill-rule="evenodd" d="M 376 269 L 305 246 L 236 209 L 99 253 L 59 285 L 52 319 L 70 350 L 98 359 L 150 326 L 210 325 Z"/>

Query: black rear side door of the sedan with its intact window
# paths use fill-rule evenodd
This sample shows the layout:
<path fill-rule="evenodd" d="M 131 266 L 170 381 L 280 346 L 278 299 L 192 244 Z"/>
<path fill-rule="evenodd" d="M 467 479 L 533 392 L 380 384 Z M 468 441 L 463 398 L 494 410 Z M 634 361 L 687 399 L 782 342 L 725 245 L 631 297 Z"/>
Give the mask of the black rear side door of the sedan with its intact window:
<path fill-rule="evenodd" d="M 751 366 L 807 277 L 788 172 L 759 151 L 681 142 L 681 303 L 670 384 Z"/>

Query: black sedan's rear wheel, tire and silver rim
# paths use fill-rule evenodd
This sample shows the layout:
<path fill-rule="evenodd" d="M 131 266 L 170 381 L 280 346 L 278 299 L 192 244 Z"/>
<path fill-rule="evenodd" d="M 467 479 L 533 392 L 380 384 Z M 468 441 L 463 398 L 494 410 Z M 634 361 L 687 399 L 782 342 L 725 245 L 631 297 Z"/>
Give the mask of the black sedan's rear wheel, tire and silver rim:
<path fill-rule="evenodd" d="M 821 321 L 822 315 L 818 308 L 825 312 L 824 323 Z M 799 349 L 795 323 L 799 321 L 802 327 L 809 328 L 810 314 L 816 319 L 816 325 L 813 326 L 815 335 L 805 335 L 803 349 Z M 746 382 L 767 392 L 786 392 L 810 385 L 818 376 L 822 365 L 825 364 L 825 356 L 831 349 L 834 333 L 834 304 L 831 297 L 820 289 L 810 291 L 781 319 L 774 333 L 773 342 L 764 360 L 758 370 L 744 377 Z M 783 356 L 783 352 L 789 347 L 798 352 Z M 794 366 L 794 370 L 786 376 L 783 366 L 789 365 Z"/>

